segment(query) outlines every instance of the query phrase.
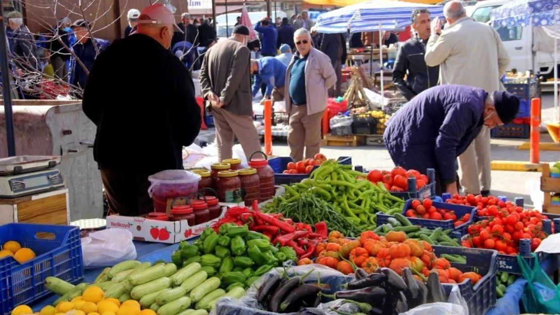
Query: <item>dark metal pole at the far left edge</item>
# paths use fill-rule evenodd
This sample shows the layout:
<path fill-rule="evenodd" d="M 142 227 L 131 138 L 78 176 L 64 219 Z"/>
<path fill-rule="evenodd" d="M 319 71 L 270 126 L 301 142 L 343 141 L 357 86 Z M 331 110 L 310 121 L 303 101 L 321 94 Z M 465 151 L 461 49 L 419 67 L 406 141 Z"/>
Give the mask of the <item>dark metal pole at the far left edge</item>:
<path fill-rule="evenodd" d="M 4 5 L 0 1 L 0 72 L 2 72 L 2 94 L 4 98 L 4 116 L 6 117 L 6 140 L 8 156 L 16 155 L 16 142 L 13 136 L 12 93 L 10 91 L 10 68 L 6 43 L 6 25 L 4 25 Z"/>

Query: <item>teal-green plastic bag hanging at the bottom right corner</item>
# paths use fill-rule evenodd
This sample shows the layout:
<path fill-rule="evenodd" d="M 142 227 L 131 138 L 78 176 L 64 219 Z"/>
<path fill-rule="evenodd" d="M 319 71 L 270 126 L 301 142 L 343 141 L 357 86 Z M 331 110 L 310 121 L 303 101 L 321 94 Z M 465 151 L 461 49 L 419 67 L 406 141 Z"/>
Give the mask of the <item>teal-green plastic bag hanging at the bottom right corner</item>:
<path fill-rule="evenodd" d="M 525 294 L 521 301 L 528 313 L 533 314 L 560 314 L 560 284 L 555 286 L 534 253 L 531 253 L 533 267 L 525 259 L 517 256 L 517 263 L 523 278 L 527 279 Z"/>

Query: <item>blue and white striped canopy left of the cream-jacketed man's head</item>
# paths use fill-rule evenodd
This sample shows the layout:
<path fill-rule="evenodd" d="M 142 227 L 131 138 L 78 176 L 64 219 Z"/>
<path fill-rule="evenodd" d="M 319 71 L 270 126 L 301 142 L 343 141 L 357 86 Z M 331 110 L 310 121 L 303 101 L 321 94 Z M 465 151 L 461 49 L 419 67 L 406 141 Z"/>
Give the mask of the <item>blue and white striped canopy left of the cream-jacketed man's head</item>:
<path fill-rule="evenodd" d="M 558 0 L 560 1 L 560 0 Z M 362 2 L 323 13 L 317 18 L 318 31 L 326 33 L 346 32 L 348 26 L 352 32 L 394 30 L 412 24 L 412 11 L 426 8 L 432 17 L 443 16 L 443 6 L 412 3 L 393 0 L 374 0 Z"/>

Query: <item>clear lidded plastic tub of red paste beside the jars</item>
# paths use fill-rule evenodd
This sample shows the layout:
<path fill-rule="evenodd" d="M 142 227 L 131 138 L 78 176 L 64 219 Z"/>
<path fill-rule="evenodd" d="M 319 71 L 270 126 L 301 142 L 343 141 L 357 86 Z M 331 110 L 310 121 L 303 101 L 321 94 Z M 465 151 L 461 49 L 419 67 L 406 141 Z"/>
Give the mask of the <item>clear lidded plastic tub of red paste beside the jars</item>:
<path fill-rule="evenodd" d="M 150 175 L 148 180 L 152 185 L 148 194 L 155 211 L 166 213 L 173 199 L 197 192 L 200 178 L 200 175 L 185 170 L 166 170 Z"/>

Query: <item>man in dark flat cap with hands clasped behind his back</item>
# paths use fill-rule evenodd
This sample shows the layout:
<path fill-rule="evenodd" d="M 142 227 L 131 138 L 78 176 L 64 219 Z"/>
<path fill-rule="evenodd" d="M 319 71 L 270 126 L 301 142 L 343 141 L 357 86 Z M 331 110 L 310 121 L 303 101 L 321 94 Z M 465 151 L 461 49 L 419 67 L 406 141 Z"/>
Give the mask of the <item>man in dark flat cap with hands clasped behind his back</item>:
<path fill-rule="evenodd" d="M 232 157 L 237 138 L 249 157 L 260 151 L 259 135 L 253 125 L 249 29 L 237 25 L 227 40 L 208 49 L 200 68 L 200 90 L 214 116 L 216 144 L 220 161 Z"/>

